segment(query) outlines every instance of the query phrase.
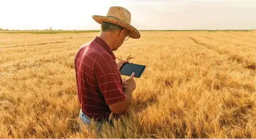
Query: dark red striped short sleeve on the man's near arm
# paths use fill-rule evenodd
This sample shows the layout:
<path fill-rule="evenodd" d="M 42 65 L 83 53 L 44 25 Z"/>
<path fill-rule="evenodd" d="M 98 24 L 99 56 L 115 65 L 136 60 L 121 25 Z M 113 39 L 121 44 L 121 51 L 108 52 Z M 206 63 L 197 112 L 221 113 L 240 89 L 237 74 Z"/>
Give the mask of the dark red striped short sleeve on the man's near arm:
<path fill-rule="evenodd" d="M 99 77 L 98 83 L 107 105 L 111 105 L 125 99 L 126 96 L 123 92 L 120 78 L 116 72 L 106 72 Z"/>

